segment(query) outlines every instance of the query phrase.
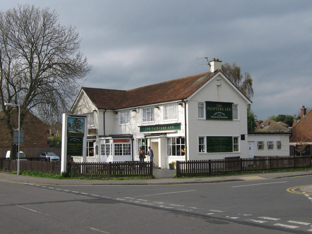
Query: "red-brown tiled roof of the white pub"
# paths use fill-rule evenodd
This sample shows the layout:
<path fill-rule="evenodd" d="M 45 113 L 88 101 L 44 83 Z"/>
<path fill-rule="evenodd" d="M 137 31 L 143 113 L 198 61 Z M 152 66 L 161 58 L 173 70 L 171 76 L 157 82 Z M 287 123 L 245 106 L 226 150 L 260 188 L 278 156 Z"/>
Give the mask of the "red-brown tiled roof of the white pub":
<path fill-rule="evenodd" d="M 131 108 L 189 98 L 215 74 L 201 73 L 126 91 L 87 87 L 82 90 L 98 109 Z"/>

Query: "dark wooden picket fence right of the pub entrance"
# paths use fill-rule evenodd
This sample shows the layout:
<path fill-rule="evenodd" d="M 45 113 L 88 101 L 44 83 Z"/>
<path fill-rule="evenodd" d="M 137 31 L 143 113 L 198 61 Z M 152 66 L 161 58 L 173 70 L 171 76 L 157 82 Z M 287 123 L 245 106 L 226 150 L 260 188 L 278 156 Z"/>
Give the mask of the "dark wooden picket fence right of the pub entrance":
<path fill-rule="evenodd" d="M 257 156 L 254 158 L 176 161 L 176 177 L 310 168 L 312 156 Z"/>

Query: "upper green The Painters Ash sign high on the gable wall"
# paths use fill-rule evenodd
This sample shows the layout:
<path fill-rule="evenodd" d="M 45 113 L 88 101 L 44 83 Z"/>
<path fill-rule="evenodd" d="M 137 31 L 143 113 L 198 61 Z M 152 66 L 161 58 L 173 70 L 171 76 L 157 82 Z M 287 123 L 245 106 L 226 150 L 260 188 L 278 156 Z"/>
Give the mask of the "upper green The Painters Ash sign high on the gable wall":
<path fill-rule="evenodd" d="M 232 102 L 206 101 L 206 119 L 233 120 Z"/>

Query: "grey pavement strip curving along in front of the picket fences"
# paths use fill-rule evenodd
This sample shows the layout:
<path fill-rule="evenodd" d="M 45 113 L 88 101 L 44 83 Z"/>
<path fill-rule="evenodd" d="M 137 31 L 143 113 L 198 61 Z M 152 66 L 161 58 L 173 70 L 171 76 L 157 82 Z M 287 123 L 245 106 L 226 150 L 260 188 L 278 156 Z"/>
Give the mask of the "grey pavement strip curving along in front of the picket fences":
<path fill-rule="evenodd" d="M 88 180 L 88 179 L 50 179 L 32 176 L 23 176 L 0 172 L 0 181 L 26 183 L 26 184 L 44 184 L 44 185 L 166 185 L 166 184 L 194 184 L 194 183 L 221 183 L 231 181 L 251 181 L 287 178 L 293 176 L 312 176 L 312 170 L 278 173 L 259 173 L 249 175 L 235 176 L 216 176 L 204 178 L 174 178 L 176 170 L 153 169 L 155 179 L 125 179 L 125 180 Z M 300 188 L 299 188 L 300 187 Z M 298 186 L 301 192 L 312 193 L 312 185 Z"/>

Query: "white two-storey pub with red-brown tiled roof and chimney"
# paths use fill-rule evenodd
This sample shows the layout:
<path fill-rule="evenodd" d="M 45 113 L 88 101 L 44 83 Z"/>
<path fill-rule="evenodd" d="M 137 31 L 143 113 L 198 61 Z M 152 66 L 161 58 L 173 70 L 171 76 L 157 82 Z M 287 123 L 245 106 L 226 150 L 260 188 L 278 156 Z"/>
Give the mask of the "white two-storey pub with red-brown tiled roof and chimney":
<path fill-rule="evenodd" d="M 70 113 L 87 116 L 87 162 L 138 160 L 138 148 L 147 146 L 160 168 L 246 157 L 251 101 L 225 77 L 221 62 L 213 59 L 210 72 L 131 90 L 82 87 Z"/>

